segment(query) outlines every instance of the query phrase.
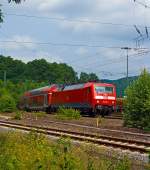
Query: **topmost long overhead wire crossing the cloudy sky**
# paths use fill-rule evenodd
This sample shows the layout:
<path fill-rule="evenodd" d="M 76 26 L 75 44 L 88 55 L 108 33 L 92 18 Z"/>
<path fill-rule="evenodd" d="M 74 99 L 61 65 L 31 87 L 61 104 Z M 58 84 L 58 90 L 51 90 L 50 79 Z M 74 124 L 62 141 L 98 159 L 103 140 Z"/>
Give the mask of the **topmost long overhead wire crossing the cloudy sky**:
<path fill-rule="evenodd" d="M 122 26 L 122 27 L 133 27 L 131 24 L 123 23 L 112 23 L 112 22 L 101 22 L 99 20 L 91 19 L 72 19 L 72 18 L 59 18 L 59 17 L 44 17 L 37 15 L 27 15 L 27 14 L 15 14 L 15 13 L 4 13 L 6 16 L 16 16 L 16 17 L 25 17 L 25 18 L 35 18 L 35 19 L 46 19 L 52 21 L 67 21 L 67 22 L 78 22 L 78 23 L 91 23 L 91 24 L 101 24 L 101 25 L 112 25 L 112 26 Z M 144 25 L 137 25 L 138 27 L 145 27 Z M 147 28 L 150 28 L 148 26 Z"/>

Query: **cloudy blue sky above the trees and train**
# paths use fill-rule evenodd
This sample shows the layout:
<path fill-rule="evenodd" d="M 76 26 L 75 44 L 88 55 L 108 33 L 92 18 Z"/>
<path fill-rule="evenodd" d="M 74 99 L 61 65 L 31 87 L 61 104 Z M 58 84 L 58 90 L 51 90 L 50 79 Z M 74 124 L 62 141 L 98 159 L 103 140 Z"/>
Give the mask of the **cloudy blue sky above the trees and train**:
<path fill-rule="evenodd" d="M 17 5 L 0 0 L 0 4 L 2 55 L 24 62 L 45 58 L 67 63 L 78 74 L 118 79 L 126 76 L 127 50 L 122 48 L 129 47 L 129 76 L 150 70 L 150 0 L 25 0 Z"/>

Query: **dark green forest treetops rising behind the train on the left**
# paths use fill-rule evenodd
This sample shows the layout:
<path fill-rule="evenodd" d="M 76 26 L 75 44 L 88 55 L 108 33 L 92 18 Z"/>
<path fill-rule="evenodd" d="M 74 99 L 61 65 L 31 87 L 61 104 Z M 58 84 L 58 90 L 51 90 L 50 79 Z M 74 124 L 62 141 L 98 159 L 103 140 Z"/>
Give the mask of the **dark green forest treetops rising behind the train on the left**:
<path fill-rule="evenodd" d="M 71 66 L 65 63 L 49 63 L 45 59 L 33 60 L 27 64 L 14 60 L 11 57 L 0 56 L 0 79 L 6 78 L 12 82 L 49 82 L 49 83 L 76 83 L 90 80 L 98 80 L 94 73 L 77 73 Z"/>

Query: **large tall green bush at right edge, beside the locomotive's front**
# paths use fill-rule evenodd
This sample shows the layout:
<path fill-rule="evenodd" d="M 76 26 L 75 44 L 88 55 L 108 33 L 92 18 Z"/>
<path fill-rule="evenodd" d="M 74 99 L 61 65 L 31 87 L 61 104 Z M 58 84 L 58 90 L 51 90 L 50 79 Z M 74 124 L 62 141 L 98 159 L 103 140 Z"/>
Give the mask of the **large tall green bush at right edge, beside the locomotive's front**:
<path fill-rule="evenodd" d="M 126 96 L 125 125 L 150 129 L 150 74 L 145 69 L 139 79 L 127 88 Z"/>

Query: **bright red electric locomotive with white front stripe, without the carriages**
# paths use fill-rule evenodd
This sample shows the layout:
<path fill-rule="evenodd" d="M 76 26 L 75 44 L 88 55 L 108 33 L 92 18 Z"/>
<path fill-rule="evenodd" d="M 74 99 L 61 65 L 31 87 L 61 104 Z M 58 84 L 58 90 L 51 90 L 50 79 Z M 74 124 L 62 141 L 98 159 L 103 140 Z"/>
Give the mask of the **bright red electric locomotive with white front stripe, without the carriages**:
<path fill-rule="evenodd" d="M 51 108 L 64 106 L 93 114 L 109 114 L 116 107 L 116 89 L 112 84 L 85 83 L 65 86 L 52 94 Z"/>

